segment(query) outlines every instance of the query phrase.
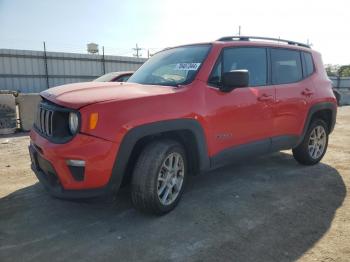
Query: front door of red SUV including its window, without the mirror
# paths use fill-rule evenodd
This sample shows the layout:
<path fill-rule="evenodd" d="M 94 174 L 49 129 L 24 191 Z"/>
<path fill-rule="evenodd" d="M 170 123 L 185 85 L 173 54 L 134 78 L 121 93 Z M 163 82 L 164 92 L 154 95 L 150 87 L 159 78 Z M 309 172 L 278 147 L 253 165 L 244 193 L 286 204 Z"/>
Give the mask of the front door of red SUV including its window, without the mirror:
<path fill-rule="evenodd" d="M 249 71 L 249 86 L 228 93 L 220 91 L 222 74 L 238 69 Z M 240 154 L 269 150 L 275 90 L 267 84 L 268 81 L 267 48 L 230 47 L 221 52 L 206 91 L 213 155 L 249 144 L 251 146 L 240 150 Z"/>

